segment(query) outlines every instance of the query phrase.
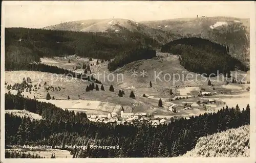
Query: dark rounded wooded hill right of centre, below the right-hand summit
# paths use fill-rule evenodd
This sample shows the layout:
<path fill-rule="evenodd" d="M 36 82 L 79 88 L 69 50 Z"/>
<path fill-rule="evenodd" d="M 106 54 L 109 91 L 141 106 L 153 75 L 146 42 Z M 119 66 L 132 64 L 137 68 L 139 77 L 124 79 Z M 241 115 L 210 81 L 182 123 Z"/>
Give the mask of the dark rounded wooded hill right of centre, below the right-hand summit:
<path fill-rule="evenodd" d="M 161 52 L 180 55 L 180 63 L 196 73 L 230 74 L 235 68 L 248 71 L 238 59 L 229 55 L 229 47 L 202 38 L 182 38 L 162 45 Z M 206 75 L 206 76 L 207 76 Z"/>

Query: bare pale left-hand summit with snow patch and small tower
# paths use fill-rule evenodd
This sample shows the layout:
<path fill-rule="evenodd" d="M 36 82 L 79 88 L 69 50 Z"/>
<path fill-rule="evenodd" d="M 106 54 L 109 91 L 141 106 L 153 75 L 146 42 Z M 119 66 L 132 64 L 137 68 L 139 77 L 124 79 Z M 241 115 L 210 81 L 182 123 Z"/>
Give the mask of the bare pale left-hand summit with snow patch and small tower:
<path fill-rule="evenodd" d="M 78 20 L 47 26 L 44 29 L 79 32 L 108 32 L 118 30 L 117 33 L 130 31 L 148 35 L 160 43 L 167 42 L 171 36 L 167 31 L 150 28 L 143 23 L 129 19 Z"/>

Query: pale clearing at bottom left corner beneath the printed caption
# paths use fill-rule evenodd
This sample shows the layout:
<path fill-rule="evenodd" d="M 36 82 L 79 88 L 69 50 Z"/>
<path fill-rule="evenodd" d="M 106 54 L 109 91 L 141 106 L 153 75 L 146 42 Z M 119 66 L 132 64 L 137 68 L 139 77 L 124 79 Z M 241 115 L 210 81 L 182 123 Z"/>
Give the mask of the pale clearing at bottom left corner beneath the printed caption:
<path fill-rule="evenodd" d="M 45 158 L 51 158 L 51 155 L 54 154 L 56 158 L 72 158 L 73 155 L 70 154 L 70 151 L 60 150 L 60 149 L 29 149 L 23 148 L 23 146 L 11 146 L 11 149 L 6 149 L 7 151 L 16 151 L 24 152 L 30 154 L 38 154 Z"/>

